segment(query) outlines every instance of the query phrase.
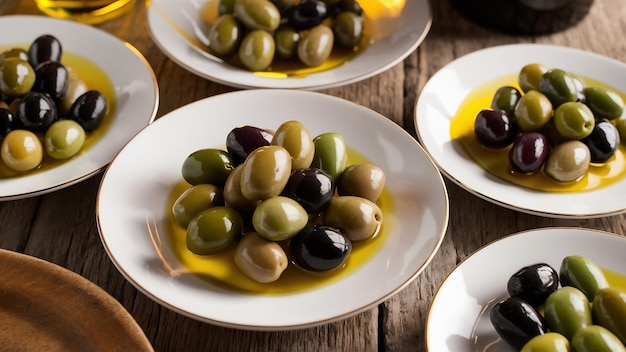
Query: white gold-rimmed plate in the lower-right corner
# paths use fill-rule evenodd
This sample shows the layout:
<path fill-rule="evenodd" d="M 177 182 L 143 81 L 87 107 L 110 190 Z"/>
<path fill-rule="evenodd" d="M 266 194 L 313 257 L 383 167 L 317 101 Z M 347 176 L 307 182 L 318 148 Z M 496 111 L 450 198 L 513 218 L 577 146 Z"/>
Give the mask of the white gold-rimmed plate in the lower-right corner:
<path fill-rule="evenodd" d="M 507 295 L 506 283 L 524 266 L 547 263 L 559 270 L 565 256 L 583 255 L 624 273 L 626 238 L 582 228 L 543 228 L 494 241 L 452 271 L 428 313 L 426 343 L 438 352 L 514 352 L 489 321 L 489 308 Z"/>

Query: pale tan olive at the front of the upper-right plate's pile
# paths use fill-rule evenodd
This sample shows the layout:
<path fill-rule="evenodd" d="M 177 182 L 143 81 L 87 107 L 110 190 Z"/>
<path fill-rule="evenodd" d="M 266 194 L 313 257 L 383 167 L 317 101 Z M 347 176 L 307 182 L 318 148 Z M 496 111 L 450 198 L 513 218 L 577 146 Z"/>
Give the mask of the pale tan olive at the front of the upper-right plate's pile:
<path fill-rule="evenodd" d="M 567 141 L 552 150 L 543 171 L 555 181 L 571 182 L 587 172 L 590 161 L 591 153 L 583 142 Z"/>

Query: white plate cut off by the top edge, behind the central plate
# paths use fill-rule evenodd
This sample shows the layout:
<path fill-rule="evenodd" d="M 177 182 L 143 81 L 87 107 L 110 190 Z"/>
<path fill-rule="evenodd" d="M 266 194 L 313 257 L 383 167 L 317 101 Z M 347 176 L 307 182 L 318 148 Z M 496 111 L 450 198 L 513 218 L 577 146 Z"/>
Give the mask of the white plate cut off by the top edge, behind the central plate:
<path fill-rule="evenodd" d="M 148 7 L 148 29 L 161 50 L 186 70 L 209 80 L 239 88 L 285 88 L 321 90 L 355 83 L 377 75 L 402 61 L 424 40 L 432 23 L 427 0 L 379 2 L 367 14 L 384 36 L 353 60 L 327 71 L 305 77 L 263 77 L 220 62 L 194 50 L 184 39 L 194 37 L 202 5 L 210 0 L 153 0 Z M 403 7 L 402 7 L 403 6 Z M 401 13 L 397 13 L 401 8 Z M 199 26 L 198 26 L 199 27 Z M 181 35 L 181 33 L 183 35 Z M 381 35 L 382 36 L 382 35 Z"/>

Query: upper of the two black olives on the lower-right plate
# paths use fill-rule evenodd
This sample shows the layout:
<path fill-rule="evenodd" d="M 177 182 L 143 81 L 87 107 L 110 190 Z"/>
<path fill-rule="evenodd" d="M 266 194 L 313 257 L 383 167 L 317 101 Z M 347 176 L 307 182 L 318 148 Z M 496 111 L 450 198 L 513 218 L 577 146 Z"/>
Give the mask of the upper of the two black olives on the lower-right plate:
<path fill-rule="evenodd" d="M 539 308 L 559 287 L 559 274 L 553 267 L 538 263 L 521 268 L 507 282 L 507 291 Z"/>

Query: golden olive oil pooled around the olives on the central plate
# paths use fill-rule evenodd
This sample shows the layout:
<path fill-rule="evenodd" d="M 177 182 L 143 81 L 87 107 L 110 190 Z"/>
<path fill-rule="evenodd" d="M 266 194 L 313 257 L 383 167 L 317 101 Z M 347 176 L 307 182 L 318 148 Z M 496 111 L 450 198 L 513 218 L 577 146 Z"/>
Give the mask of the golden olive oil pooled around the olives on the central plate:
<path fill-rule="evenodd" d="M 368 162 L 366 158 L 354 150 L 349 150 L 348 165 L 364 162 Z M 372 239 L 353 242 L 352 252 L 342 267 L 326 273 L 313 273 L 301 270 L 290 263 L 277 281 L 262 284 L 248 278 L 237 268 L 233 259 L 234 248 L 210 256 L 195 255 L 187 249 L 186 230 L 175 224 L 170 209 L 178 196 L 189 187 L 190 185 L 185 181 L 179 182 L 170 194 L 166 209 L 168 243 L 172 252 L 190 273 L 215 286 L 236 292 L 266 295 L 290 294 L 340 280 L 372 258 L 385 243 L 393 227 L 392 197 L 389 190 L 384 189 L 377 202 L 385 217 L 380 232 Z"/>

